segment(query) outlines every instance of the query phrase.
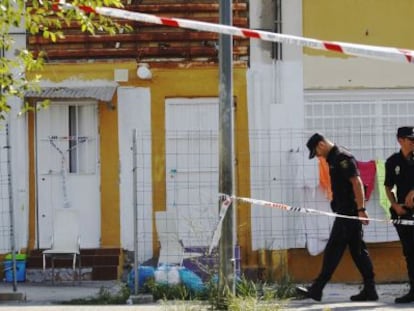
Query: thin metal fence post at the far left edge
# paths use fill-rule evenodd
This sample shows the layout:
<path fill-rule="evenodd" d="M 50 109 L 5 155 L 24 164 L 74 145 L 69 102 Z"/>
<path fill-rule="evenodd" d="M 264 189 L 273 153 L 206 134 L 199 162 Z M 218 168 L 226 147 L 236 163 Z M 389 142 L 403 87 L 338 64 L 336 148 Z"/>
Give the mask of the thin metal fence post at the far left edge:
<path fill-rule="evenodd" d="M 12 169 L 11 169 L 11 146 L 9 124 L 6 124 L 6 146 L 7 148 L 7 175 L 9 184 L 9 210 L 10 210 L 10 248 L 12 254 L 13 269 L 13 291 L 17 291 L 17 274 L 16 274 L 16 241 L 14 235 L 14 205 L 13 205 L 13 185 L 12 185 Z"/>

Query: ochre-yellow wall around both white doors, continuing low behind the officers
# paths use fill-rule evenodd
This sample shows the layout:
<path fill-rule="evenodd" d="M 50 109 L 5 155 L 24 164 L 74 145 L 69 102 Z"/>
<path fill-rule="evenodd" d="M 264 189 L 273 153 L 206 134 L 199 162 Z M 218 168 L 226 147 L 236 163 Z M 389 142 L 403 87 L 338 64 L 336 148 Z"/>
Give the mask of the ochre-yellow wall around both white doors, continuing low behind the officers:
<path fill-rule="evenodd" d="M 212 66 L 152 67 L 152 80 L 136 78 L 136 63 L 101 64 L 53 64 L 47 65 L 44 79 L 61 81 L 77 79 L 113 79 L 114 68 L 128 69 L 129 82 L 121 86 L 148 87 L 151 90 L 152 115 L 152 177 L 154 212 L 165 210 L 165 99 L 172 97 L 218 96 L 218 69 Z M 59 74 L 57 74 L 59 73 Z M 248 111 L 246 97 L 246 68 L 234 68 L 234 96 L 236 144 L 236 189 L 240 196 L 250 197 L 250 157 L 248 142 Z M 120 247 L 120 206 L 119 206 L 119 154 L 117 102 L 114 108 L 99 105 L 100 152 L 101 152 L 101 237 L 102 248 Z M 138 103 L 137 103 L 138 104 Z M 122 120 L 121 120 L 122 122 Z M 30 218 L 29 248 L 35 245 L 35 189 L 34 189 L 34 137 L 33 117 L 29 114 L 29 159 L 30 165 Z M 161 137 L 161 139 L 159 139 Z M 251 250 L 251 213 L 248 204 L 237 205 L 237 238 L 241 248 L 243 270 L 252 277 L 280 279 L 289 274 L 293 280 L 313 280 L 322 262 L 322 256 L 310 256 L 306 249 L 280 251 Z M 153 223 L 153 232 L 156 232 Z M 154 250 L 157 237 L 153 238 Z M 398 242 L 370 244 L 369 250 L 374 262 L 378 281 L 399 281 L 406 279 L 405 264 Z M 249 273 L 251 272 L 251 273 Z M 332 281 L 354 282 L 360 276 L 348 253 L 345 254 Z"/>

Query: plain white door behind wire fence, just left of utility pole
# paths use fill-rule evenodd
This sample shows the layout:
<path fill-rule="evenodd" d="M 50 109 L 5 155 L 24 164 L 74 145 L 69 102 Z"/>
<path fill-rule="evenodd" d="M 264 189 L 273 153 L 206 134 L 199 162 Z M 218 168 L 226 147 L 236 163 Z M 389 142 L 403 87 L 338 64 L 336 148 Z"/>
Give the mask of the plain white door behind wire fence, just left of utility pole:
<path fill-rule="evenodd" d="M 185 246 L 207 246 L 218 217 L 218 99 L 166 101 L 167 210 Z"/>

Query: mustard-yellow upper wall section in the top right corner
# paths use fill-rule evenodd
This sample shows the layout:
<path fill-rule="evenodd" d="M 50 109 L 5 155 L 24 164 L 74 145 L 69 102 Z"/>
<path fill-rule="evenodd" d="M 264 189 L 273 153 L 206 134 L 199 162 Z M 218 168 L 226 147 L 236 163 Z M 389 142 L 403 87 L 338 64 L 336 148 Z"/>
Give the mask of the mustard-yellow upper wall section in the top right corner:
<path fill-rule="evenodd" d="M 413 49 L 412 0 L 303 0 L 305 37 Z M 304 49 L 305 54 L 345 57 Z"/>

